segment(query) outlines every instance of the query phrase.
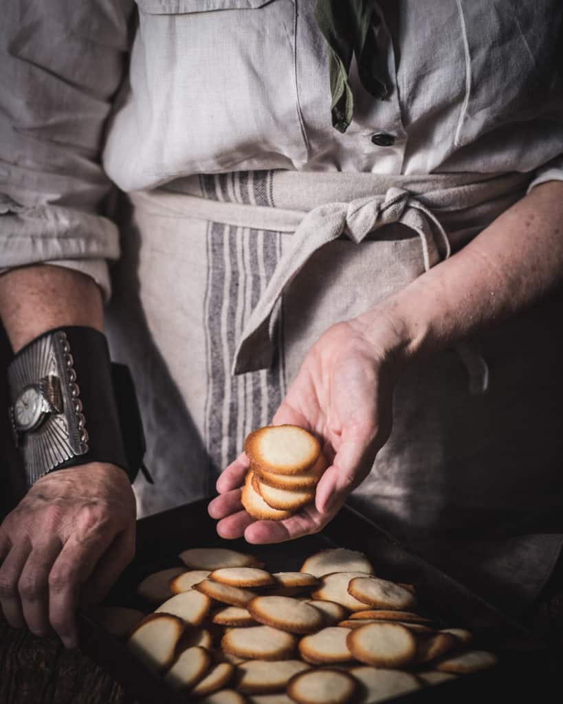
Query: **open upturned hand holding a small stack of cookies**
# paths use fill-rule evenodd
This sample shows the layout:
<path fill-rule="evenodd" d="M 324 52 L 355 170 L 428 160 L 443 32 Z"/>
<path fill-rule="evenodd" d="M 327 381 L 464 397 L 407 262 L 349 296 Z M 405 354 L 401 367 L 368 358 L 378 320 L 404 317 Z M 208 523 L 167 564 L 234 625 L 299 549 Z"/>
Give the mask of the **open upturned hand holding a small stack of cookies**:
<path fill-rule="evenodd" d="M 256 521 L 241 505 L 248 458 L 242 454 L 217 480 L 210 516 L 224 538 L 277 543 L 315 533 L 331 520 L 373 465 L 391 433 L 396 379 L 407 343 L 387 315 L 361 316 L 334 325 L 310 349 L 274 425 L 300 425 L 320 439 L 329 467 L 315 503 L 283 521 Z M 241 510 L 242 509 L 242 510 Z"/>

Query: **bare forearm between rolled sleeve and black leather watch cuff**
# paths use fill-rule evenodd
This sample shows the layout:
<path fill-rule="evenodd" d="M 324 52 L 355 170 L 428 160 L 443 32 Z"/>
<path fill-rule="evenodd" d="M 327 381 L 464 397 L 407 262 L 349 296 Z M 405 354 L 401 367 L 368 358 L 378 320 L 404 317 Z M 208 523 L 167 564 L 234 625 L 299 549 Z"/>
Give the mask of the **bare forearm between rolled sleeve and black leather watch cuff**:
<path fill-rule="evenodd" d="M 90 277 L 37 265 L 0 276 L 0 318 L 15 352 L 46 330 L 63 325 L 103 329 L 101 292 Z"/>

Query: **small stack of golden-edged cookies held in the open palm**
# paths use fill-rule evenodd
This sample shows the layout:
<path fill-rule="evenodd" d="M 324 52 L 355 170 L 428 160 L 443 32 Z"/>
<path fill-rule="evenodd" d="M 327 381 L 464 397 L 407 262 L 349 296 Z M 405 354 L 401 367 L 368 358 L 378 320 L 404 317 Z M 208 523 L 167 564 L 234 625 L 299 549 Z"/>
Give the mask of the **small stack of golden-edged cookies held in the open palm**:
<path fill-rule="evenodd" d="M 296 425 L 268 425 L 248 435 L 251 462 L 242 504 L 258 520 L 281 521 L 315 501 L 315 487 L 327 469 L 319 441 Z"/>

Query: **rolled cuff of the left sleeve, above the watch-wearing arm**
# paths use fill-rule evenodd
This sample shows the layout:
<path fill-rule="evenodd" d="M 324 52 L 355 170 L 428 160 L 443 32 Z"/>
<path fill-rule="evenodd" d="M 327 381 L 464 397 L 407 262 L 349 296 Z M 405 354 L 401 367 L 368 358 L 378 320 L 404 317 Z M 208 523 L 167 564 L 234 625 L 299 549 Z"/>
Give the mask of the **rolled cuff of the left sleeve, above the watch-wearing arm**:
<path fill-rule="evenodd" d="M 106 260 L 119 258 L 118 227 L 101 215 L 59 206 L 20 206 L 0 197 L 1 273 L 31 264 L 64 266 L 91 276 L 110 297 Z"/>

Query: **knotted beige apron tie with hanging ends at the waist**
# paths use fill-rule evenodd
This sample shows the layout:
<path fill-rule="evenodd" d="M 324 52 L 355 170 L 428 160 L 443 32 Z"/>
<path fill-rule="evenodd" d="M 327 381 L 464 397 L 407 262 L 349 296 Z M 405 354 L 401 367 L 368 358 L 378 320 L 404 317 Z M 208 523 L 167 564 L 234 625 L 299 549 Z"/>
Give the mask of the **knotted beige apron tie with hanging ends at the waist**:
<path fill-rule="evenodd" d="M 281 256 L 270 282 L 246 322 L 235 351 L 232 373 L 244 374 L 270 367 L 281 296 L 317 249 L 343 234 L 360 244 L 367 234 L 392 223 L 405 225 L 419 235 L 425 271 L 450 256 L 450 241 L 441 222 L 405 189 L 391 187 L 384 196 L 366 196 L 350 203 L 325 203 L 313 208 L 299 223 L 291 245 Z M 443 257 L 434 232 L 442 241 Z M 469 343 L 458 346 L 457 353 L 469 374 L 469 391 L 472 394 L 486 391 L 488 367 L 485 360 Z"/>

